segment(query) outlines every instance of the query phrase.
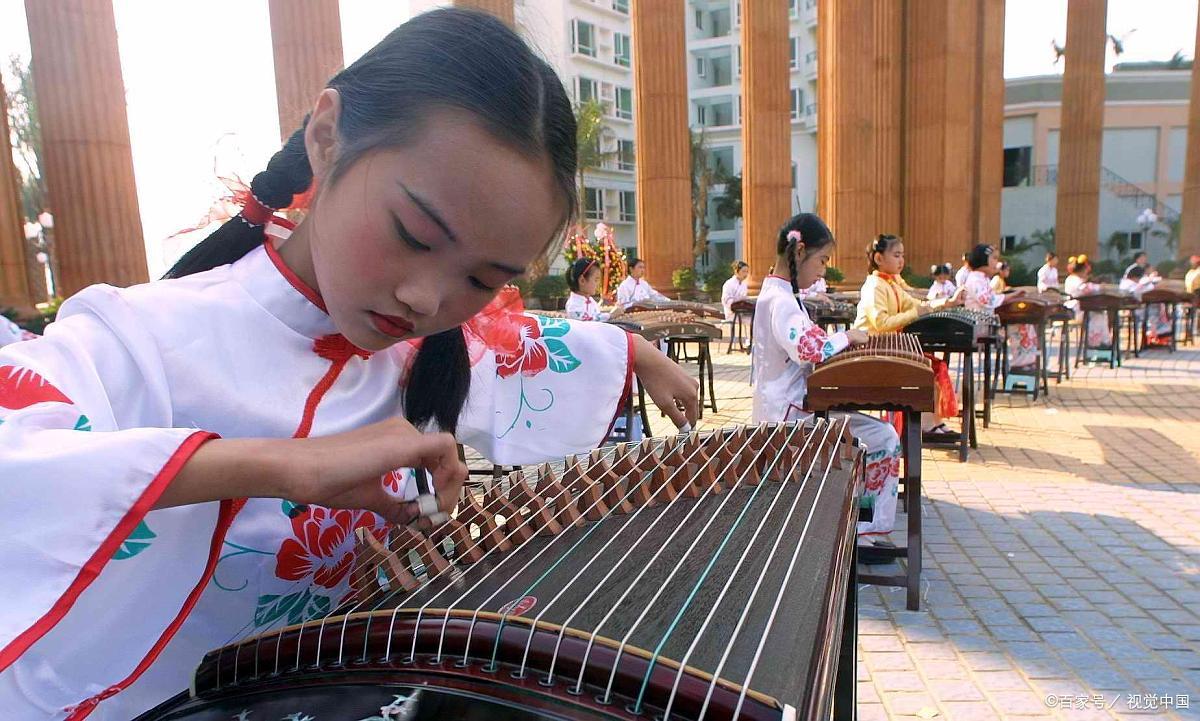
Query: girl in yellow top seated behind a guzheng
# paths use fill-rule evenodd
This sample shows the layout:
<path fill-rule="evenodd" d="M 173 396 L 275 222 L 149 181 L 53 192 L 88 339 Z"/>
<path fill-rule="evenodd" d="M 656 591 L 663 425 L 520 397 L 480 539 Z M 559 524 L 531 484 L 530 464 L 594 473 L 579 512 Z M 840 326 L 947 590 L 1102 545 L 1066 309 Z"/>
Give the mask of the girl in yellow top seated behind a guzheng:
<path fill-rule="evenodd" d="M 866 276 L 858 301 L 854 328 L 859 330 L 872 334 L 899 332 L 930 311 L 962 304 L 961 289 L 950 298 L 931 301 L 917 300 L 908 293 L 908 283 L 900 277 L 904 270 L 904 241 L 895 235 L 876 238 L 866 248 L 866 259 L 871 266 L 871 275 Z M 954 417 L 959 413 L 954 384 L 950 381 L 946 361 L 931 354 L 926 355 L 934 362 L 934 380 L 937 386 L 937 411 L 934 414 L 930 432 L 948 433 L 943 419 Z"/>

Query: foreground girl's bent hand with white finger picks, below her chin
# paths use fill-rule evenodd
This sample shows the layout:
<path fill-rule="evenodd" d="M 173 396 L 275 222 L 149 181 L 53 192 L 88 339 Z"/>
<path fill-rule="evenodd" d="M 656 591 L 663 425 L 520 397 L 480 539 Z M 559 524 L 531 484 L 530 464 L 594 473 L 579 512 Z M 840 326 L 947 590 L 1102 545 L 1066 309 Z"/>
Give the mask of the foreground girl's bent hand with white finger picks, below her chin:
<path fill-rule="evenodd" d="M 433 476 L 438 507 L 458 503 L 467 467 L 449 433 L 421 433 L 402 417 L 391 417 L 348 433 L 294 441 L 287 499 L 334 509 L 374 511 L 390 523 L 418 516 L 416 503 L 384 491 L 383 476 L 397 468 L 424 468 Z"/>

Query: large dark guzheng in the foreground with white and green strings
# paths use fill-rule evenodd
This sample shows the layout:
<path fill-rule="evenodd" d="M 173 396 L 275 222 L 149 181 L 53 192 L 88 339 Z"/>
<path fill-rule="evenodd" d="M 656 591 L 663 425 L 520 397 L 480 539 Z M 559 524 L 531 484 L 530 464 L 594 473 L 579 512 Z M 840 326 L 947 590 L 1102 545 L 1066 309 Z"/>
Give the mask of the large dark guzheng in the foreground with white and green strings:
<path fill-rule="evenodd" d="M 364 529 L 352 601 L 210 651 L 142 719 L 828 719 L 862 480 L 830 420 L 516 471 L 426 533 Z"/>

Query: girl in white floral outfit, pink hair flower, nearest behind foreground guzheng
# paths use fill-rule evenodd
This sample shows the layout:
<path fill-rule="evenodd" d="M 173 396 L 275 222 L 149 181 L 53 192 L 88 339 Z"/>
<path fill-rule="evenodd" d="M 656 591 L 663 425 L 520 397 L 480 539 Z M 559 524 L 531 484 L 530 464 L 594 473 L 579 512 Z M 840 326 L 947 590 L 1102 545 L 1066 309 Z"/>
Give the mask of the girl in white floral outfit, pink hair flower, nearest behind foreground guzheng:
<path fill-rule="evenodd" d="M 754 421 L 804 420 L 808 377 L 812 367 L 851 344 L 865 343 L 866 334 L 847 330 L 827 335 L 812 323 L 794 293 L 824 275 L 833 251 L 833 234 L 820 217 L 804 212 L 792 217 L 776 241 L 775 269 L 762 281 L 755 306 Z M 874 509 L 871 521 L 858 523 L 859 536 L 883 535 L 895 523 L 896 485 L 900 480 L 900 438 L 895 428 L 870 416 L 850 414 L 850 428 L 866 444 L 864 501 Z"/>

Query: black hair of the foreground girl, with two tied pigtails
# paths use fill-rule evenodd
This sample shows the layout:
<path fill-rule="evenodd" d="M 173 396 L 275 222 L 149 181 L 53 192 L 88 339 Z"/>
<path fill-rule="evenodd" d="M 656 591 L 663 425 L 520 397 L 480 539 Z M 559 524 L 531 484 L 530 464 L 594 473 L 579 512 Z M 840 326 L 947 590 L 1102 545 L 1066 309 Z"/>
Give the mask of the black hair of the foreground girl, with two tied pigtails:
<path fill-rule="evenodd" d="M 578 198 L 571 102 L 551 66 L 497 18 L 461 8 L 416 16 L 334 76 L 328 86 L 337 90 L 341 109 L 338 155 L 323 185 L 335 184 L 368 151 L 416 142 L 430 113 L 456 108 L 470 113 L 508 146 L 548 157 L 566 198 L 564 224 L 574 217 Z M 254 176 L 251 191 L 262 205 L 278 210 L 311 185 L 301 126 Z M 233 263 L 264 241 L 265 227 L 239 214 L 180 258 L 166 277 Z M 427 336 L 404 391 L 404 415 L 415 426 L 432 420 L 454 433 L 469 383 L 462 329 Z"/>

